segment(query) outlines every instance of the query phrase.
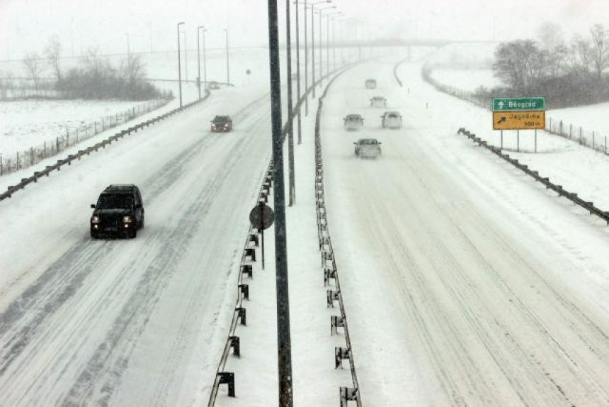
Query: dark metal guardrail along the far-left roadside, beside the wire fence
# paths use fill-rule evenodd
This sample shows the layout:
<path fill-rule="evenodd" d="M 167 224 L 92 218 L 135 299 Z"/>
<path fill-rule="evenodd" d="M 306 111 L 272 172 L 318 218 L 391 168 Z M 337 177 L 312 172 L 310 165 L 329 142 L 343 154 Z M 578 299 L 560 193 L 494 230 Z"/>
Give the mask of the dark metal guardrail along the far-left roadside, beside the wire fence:
<path fill-rule="evenodd" d="M 180 108 L 174 108 L 173 110 L 168 111 L 164 114 L 161 114 L 160 116 L 156 116 L 155 118 L 151 118 L 147 121 L 143 121 L 142 123 L 139 123 L 135 126 L 127 128 L 125 130 L 122 130 L 119 133 L 116 133 L 115 135 L 110 136 L 109 138 L 106 138 L 105 140 L 100 141 L 99 143 L 91 145 L 90 147 L 87 147 L 84 150 L 79 150 L 76 154 L 71 154 L 71 155 L 68 155 L 67 157 L 63 158 L 62 160 L 57 160 L 57 162 L 54 165 L 47 165 L 45 167 L 45 169 L 43 169 L 42 171 L 35 171 L 32 176 L 21 179 L 21 182 L 19 182 L 18 184 L 8 186 L 6 192 L 0 194 L 0 201 L 4 201 L 4 199 L 11 198 L 11 196 L 13 196 L 13 194 L 15 194 L 17 191 L 24 189 L 25 186 L 32 184 L 33 182 L 38 182 L 38 179 L 40 179 L 42 177 L 48 177 L 49 174 L 53 171 L 56 171 L 56 170 L 61 171 L 61 168 L 64 165 L 72 165 L 73 161 L 80 160 L 84 155 L 90 155 L 91 152 L 96 152 L 100 148 L 106 148 L 106 145 L 110 145 L 114 141 L 118 141 L 119 139 L 125 137 L 125 135 L 131 135 L 131 133 L 136 133 L 137 130 L 140 130 L 144 127 L 149 127 L 158 121 L 165 120 L 166 118 L 173 116 L 176 113 L 179 113 L 187 108 L 190 108 L 190 107 L 195 106 L 196 104 L 199 104 L 202 101 L 205 101 L 208 97 L 210 97 L 210 92 L 206 91 L 205 97 L 203 97 L 197 101 L 193 101 Z"/>

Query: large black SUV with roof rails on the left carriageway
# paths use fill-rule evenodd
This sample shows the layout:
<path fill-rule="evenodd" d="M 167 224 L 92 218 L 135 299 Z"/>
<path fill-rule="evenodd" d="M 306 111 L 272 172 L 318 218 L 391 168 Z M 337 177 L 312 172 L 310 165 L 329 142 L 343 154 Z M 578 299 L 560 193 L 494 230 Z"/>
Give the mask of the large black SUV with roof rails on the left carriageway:
<path fill-rule="evenodd" d="M 144 202 L 140 189 L 133 184 L 115 184 L 104 189 L 91 216 L 91 238 L 102 235 L 125 235 L 135 238 L 144 227 Z"/>

